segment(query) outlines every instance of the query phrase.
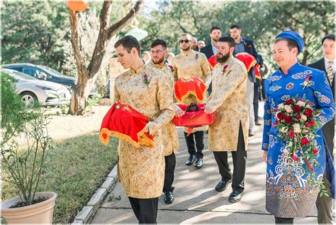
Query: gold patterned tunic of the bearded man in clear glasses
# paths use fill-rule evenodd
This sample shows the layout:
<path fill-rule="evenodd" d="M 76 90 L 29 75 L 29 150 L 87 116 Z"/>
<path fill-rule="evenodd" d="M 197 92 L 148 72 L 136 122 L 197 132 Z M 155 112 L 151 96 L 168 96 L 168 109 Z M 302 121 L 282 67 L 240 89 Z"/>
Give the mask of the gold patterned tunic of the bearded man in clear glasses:
<path fill-rule="evenodd" d="M 152 60 L 150 60 L 150 62 L 148 62 L 147 64 L 167 74 L 170 77 L 170 85 L 172 87 L 174 86 L 172 66 L 169 66 L 167 62 L 165 62 L 163 66 L 159 64 L 155 64 Z M 162 139 L 161 142 L 164 148 L 164 156 L 172 155 L 172 153 L 176 153 L 177 150 L 179 150 L 179 137 L 177 136 L 177 128 L 174 122 L 169 121 L 168 124 L 162 128 L 161 133 L 162 135 L 159 138 Z"/>

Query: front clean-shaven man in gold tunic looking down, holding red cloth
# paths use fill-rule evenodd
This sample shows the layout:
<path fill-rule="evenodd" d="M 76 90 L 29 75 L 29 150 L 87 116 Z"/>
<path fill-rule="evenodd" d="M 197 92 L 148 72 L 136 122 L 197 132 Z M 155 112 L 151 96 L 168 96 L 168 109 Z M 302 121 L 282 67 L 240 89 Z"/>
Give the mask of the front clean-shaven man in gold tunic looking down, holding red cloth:
<path fill-rule="evenodd" d="M 118 62 L 129 69 L 116 77 L 114 101 L 121 100 L 147 116 L 143 131 L 153 136 L 153 148 L 136 148 L 128 141 L 119 141 L 118 179 L 140 224 L 157 223 L 158 199 L 164 184 L 164 149 L 162 128 L 174 117 L 172 79 L 140 58 L 140 44 L 132 35 L 125 35 L 114 45 Z M 146 99 L 146 101 L 144 101 Z"/>

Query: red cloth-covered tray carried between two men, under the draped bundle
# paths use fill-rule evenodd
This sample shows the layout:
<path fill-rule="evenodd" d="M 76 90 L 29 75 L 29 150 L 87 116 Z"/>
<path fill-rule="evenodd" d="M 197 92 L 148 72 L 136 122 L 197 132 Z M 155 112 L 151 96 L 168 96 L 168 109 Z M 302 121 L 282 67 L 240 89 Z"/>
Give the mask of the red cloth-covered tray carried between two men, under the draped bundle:
<path fill-rule="evenodd" d="M 198 111 L 186 111 L 185 104 L 178 104 L 178 106 L 185 111 L 183 116 L 174 116 L 175 126 L 186 126 L 188 127 L 188 135 L 191 130 L 198 126 L 211 125 L 215 121 L 214 114 L 206 114 L 204 112 L 205 104 L 196 104 L 198 106 Z"/>

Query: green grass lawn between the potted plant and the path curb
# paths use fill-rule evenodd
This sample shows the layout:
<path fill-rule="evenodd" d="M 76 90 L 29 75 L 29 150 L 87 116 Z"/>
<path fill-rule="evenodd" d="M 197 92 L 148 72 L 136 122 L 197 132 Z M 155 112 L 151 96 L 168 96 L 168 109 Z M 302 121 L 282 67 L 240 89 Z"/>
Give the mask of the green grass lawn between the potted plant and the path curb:
<path fill-rule="evenodd" d="M 103 146 L 98 133 L 54 143 L 49 152 L 52 161 L 40 180 L 38 191 L 57 193 L 54 223 L 71 223 L 74 216 L 101 187 L 108 172 L 116 164 L 118 141 L 111 138 Z M 2 200 L 17 196 L 13 185 L 4 182 Z"/>

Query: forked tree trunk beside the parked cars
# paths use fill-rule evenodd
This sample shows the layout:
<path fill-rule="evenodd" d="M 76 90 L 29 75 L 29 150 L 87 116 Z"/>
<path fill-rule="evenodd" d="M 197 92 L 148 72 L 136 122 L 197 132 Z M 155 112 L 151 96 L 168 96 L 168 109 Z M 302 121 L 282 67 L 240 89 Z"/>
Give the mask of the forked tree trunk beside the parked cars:
<path fill-rule="evenodd" d="M 94 53 L 91 57 L 89 66 L 84 65 L 82 57 L 82 46 L 80 36 L 78 34 L 78 13 L 69 9 L 70 26 L 71 26 L 71 43 L 74 49 L 74 58 L 77 64 L 78 79 L 76 87 L 72 92 L 72 97 L 69 106 L 69 114 L 83 115 L 85 113 L 86 99 L 89 97 L 91 88 L 98 77 L 99 68 L 103 61 L 103 56 L 106 53 L 106 46 L 113 35 L 116 35 L 128 22 L 135 16 L 140 9 L 142 1 L 138 1 L 133 9 L 117 23 L 110 26 L 112 1 L 104 1 L 103 8 L 100 13 L 100 29 L 99 35 L 94 48 Z"/>

